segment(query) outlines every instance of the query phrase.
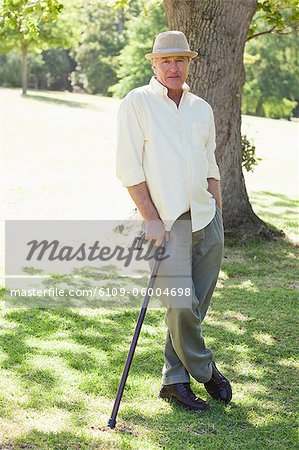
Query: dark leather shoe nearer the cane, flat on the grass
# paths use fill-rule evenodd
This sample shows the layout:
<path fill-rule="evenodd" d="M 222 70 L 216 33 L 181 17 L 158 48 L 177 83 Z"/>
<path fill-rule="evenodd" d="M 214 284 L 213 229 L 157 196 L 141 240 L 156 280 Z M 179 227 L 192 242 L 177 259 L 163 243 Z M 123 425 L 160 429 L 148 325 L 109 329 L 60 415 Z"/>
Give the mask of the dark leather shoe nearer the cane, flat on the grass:
<path fill-rule="evenodd" d="M 207 402 L 196 397 L 190 388 L 190 383 L 176 383 L 162 386 L 159 397 L 163 399 L 175 400 L 184 408 L 196 411 L 206 411 L 209 409 Z"/>

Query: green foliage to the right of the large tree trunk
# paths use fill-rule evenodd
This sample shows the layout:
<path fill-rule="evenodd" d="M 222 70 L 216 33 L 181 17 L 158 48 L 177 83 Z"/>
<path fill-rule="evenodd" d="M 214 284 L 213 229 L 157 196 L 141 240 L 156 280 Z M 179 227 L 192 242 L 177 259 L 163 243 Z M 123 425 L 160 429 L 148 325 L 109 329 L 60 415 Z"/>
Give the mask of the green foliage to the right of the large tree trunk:
<path fill-rule="evenodd" d="M 244 113 L 287 118 L 298 109 L 298 29 L 298 0 L 258 0 L 244 57 Z"/>

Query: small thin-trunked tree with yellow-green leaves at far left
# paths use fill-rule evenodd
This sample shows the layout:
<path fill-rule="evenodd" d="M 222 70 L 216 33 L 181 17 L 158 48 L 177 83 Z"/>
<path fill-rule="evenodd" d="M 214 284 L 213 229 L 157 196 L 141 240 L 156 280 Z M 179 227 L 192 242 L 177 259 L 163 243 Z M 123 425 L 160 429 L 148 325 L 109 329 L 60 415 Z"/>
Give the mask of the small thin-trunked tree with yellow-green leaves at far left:
<path fill-rule="evenodd" d="M 0 3 L 0 50 L 20 49 L 23 94 L 27 92 L 28 51 L 67 46 L 70 42 L 70 23 L 57 26 L 62 10 L 58 0 L 2 0 Z"/>

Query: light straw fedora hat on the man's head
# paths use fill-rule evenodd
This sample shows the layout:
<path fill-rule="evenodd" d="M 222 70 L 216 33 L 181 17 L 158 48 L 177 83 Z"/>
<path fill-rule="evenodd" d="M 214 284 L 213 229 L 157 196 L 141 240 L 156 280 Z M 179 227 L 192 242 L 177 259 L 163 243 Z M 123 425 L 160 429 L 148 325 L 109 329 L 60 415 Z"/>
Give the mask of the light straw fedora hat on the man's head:
<path fill-rule="evenodd" d="M 145 55 L 146 59 L 163 56 L 189 56 L 195 58 L 197 52 L 190 50 L 188 41 L 184 33 L 181 31 L 164 31 L 157 35 L 153 52 Z"/>

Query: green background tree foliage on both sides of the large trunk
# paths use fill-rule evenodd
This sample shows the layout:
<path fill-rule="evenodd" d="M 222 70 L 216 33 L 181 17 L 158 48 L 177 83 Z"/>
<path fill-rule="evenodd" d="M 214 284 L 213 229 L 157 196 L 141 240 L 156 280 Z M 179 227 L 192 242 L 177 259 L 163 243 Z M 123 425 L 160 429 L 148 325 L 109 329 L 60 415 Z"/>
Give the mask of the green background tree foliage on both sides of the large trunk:
<path fill-rule="evenodd" d="M 244 113 L 289 117 L 298 108 L 296 5 L 258 1 L 244 58 Z M 29 86 L 70 89 L 71 78 L 89 93 L 123 97 L 148 82 L 144 54 L 166 29 L 163 0 L 0 0 L 0 52 L 13 51 L 1 56 L 0 84 L 19 85 L 23 47 Z"/>

